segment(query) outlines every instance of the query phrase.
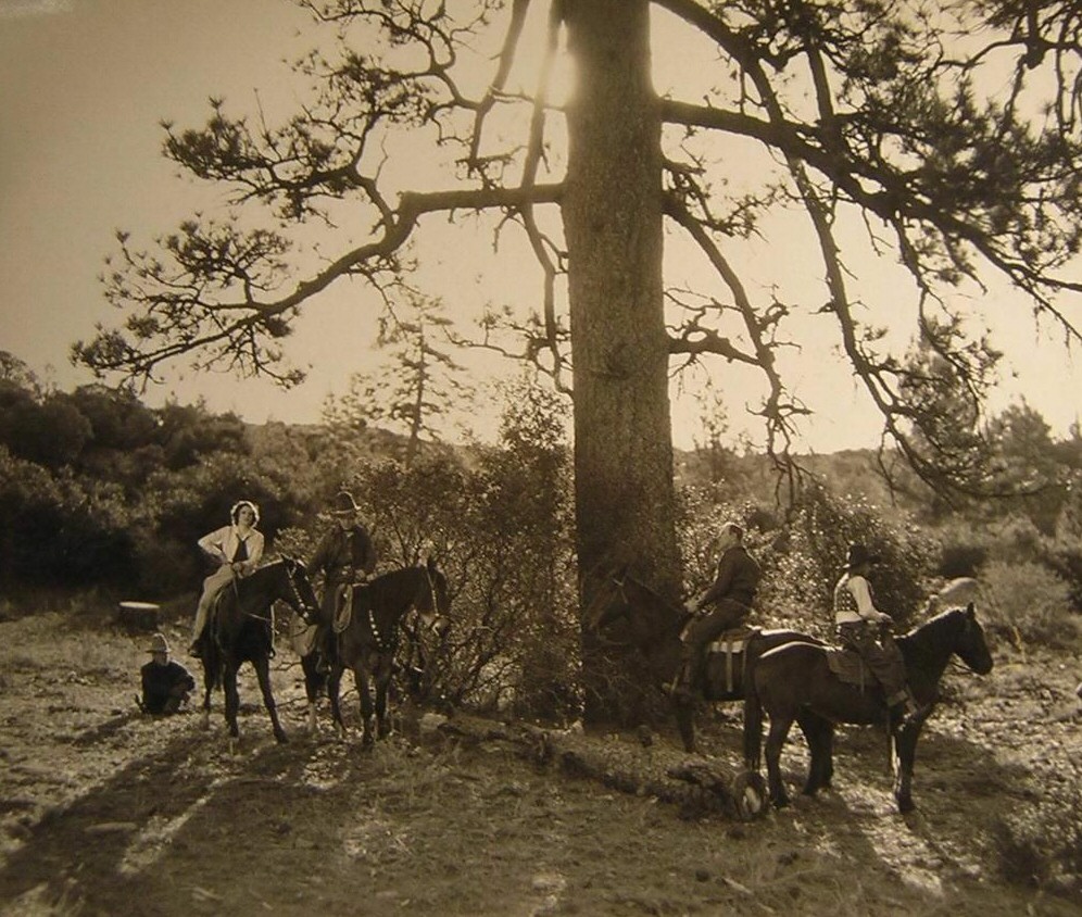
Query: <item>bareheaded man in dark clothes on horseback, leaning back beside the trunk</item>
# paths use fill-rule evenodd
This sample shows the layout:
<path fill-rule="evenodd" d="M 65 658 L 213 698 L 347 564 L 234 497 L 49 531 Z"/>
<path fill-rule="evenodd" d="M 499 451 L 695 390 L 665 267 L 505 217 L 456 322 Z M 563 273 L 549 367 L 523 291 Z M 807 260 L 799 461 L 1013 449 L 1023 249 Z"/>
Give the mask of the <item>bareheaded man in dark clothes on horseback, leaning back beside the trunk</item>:
<path fill-rule="evenodd" d="M 681 635 L 680 669 L 672 682 L 674 696 L 690 696 L 706 648 L 726 630 L 743 624 L 751 614 L 759 585 L 759 565 L 744 548 L 744 530 L 735 523 L 721 527 L 721 558 L 714 585 L 695 603 L 695 617 Z"/>

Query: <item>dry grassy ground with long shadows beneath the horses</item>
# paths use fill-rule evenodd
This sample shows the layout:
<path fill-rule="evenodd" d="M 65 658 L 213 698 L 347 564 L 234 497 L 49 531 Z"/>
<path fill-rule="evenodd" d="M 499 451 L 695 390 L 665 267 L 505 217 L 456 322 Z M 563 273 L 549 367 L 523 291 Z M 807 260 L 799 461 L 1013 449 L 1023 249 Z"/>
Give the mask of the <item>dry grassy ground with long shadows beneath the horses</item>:
<path fill-rule="evenodd" d="M 179 628 L 167 633 L 184 645 Z M 311 737 L 288 649 L 275 689 L 290 742 L 274 742 L 246 677 L 230 754 L 219 698 L 210 731 L 198 714 L 138 714 L 146 642 L 89 615 L 0 621 L 4 917 L 1082 914 L 1082 851 L 1064 837 L 1082 812 L 1078 657 L 1001 650 L 983 679 L 949 673 L 913 816 L 894 809 L 882 738 L 854 728 L 839 733 L 835 790 L 740 824 L 501 743 L 403 733 L 363 753 L 325 709 Z M 701 716 L 714 761 L 735 763 L 739 715 Z M 669 732 L 649 746 L 588 738 L 641 761 L 681 757 Z M 800 740 L 784 765 L 798 790 Z M 1037 843 L 1004 840 L 1027 819 Z M 1042 861 L 1042 844 L 1062 859 L 1071 843 L 1073 867 Z"/>

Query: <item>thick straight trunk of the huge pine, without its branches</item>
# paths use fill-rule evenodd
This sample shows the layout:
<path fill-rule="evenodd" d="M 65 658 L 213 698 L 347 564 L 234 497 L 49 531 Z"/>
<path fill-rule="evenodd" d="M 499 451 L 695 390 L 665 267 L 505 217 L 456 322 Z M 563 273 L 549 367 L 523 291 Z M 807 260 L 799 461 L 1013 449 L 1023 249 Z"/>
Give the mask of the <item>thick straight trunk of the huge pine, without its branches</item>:
<path fill-rule="evenodd" d="M 662 286 L 662 152 L 646 0 L 567 0 L 578 85 L 567 113 L 563 203 L 575 385 L 575 482 L 582 606 L 629 563 L 679 588 L 668 349 Z M 593 713 L 628 711 L 587 645 Z M 594 652 L 591 652 L 593 650 Z M 621 661 L 625 668 L 630 661 Z M 633 675 L 633 673 L 632 673 Z M 642 683 L 641 679 L 636 679 Z M 625 691 L 627 689 L 624 689 Z M 605 696 L 606 693 L 609 696 Z M 633 715 L 633 713 L 632 713 Z"/>

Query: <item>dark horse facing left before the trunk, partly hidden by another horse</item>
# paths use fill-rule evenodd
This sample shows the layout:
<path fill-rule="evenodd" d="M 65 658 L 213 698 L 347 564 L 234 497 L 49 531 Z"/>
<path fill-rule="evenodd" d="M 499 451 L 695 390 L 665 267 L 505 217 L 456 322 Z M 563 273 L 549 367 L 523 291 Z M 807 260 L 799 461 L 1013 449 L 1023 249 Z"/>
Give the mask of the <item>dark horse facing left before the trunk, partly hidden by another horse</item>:
<path fill-rule="evenodd" d="M 587 627 L 595 633 L 618 619 L 627 621 L 625 639 L 645 657 L 658 687 L 671 684 L 681 665 L 680 633 L 691 618 L 687 608 L 672 604 L 626 570 L 604 580 L 590 603 Z M 704 700 L 742 701 L 747 673 L 758 657 L 776 646 L 794 640 L 818 642 L 795 630 L 753 630 L 733 652 L 710 653 L 703 679 Z M 685 698 L 674 700 L 674 713 L 684 750 L 695 751 L 695 705 Z M 801 715 L 805 729 L 821 730 L 818 717 Z M 804 720 L 807 720 L 805 724 Z"/>

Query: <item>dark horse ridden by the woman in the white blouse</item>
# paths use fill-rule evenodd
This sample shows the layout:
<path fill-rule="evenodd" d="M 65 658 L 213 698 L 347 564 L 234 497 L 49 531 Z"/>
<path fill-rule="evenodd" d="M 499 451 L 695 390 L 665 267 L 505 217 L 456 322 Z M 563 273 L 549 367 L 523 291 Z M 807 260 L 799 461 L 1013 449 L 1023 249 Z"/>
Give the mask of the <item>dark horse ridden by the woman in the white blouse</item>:
<path fill-rule="evenodd" d="M 211 608 L 211 620 L 202 642 L 203 724 L 210 724 L 211 692 L 225 690 L 225 716 L 229 736 L 240 736 L 237 711 L 237 671 L 246 662 L 252 664 L 260 680 L 263 703 L 270 715 L 274 737 L 286 741 L 278 721 L 278 709 L 270 691 L 270 656 L 274 652 L 272 605 L 286 602 L 306 617 L 316 612 L 316 598 L 307 571 L 300 561 L 282 557 L 260 567 L 251 576 L 228 583 Z"/>

